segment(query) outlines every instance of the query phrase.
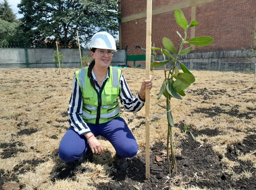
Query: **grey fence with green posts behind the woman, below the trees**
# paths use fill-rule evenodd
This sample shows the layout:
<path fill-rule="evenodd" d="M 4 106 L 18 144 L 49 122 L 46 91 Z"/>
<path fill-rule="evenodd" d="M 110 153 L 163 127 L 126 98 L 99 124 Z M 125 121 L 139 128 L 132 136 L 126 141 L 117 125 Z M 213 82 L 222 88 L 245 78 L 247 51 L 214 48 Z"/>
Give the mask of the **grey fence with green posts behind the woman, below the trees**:
<path fill-rule="evenodd" d="M 0 68 L 49 68 L 57 67 L 53 62 L 54 48 L 0 48 Z M 81 66 L 79 49 L 58 49 L 65 56 L 61 67 Z M 89 49 L 81 49 L 81 56 L 91 57 Z M 112 66 L 126 66 L 126 50 L 114 53 Z"/>

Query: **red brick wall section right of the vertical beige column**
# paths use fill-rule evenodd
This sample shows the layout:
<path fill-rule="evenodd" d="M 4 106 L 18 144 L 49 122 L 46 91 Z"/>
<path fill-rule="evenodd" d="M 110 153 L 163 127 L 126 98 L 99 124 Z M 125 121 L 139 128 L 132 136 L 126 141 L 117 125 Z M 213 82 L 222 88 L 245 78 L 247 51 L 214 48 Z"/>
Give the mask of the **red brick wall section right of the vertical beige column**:
<path fill-rule="evenodd" d="M 196 8 L 196 36 L 209 35 L 214 43 L 197 50 L 240 49 L 253 45 L 255 29 L 255 0 L 218 0 L 198 5 Z"/>

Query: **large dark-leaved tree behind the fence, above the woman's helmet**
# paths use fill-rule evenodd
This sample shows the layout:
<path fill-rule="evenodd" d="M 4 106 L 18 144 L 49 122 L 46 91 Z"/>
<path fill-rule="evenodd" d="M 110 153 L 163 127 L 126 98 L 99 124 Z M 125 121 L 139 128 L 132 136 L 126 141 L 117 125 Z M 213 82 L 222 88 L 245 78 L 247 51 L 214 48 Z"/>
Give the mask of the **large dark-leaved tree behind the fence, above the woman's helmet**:
<path fill-rule="evenodd" d="M 67 48 L 75 41 L 77 29 L 81 43 L 88 42 L 96 30 L 112 35 L 118 30 L 116 0 L 21 0 L 17 7 L 24 14 L 22 28 L 32 44 L 58 41 Z"/>

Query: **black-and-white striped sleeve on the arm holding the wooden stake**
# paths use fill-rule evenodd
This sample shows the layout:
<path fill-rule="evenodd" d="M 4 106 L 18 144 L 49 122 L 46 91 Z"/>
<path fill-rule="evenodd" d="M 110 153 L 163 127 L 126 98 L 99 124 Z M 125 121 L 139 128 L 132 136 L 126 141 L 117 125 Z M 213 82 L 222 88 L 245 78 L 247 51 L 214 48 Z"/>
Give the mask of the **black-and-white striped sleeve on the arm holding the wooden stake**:
<path fill-rule="evenodd" d="M 125 107 L 126 110 L 131 112 L 137 112 L 139 111 L 143 105 L 145 104 L 145 101 L 140 100 L 139 95 L 137 94 L 135 98 L 133 98 L 133 95 L 127 85 L 127 82 L 121 74 L 120 80 L 119 80 L 119 86 L 120 86 L 120 102 Z"/>

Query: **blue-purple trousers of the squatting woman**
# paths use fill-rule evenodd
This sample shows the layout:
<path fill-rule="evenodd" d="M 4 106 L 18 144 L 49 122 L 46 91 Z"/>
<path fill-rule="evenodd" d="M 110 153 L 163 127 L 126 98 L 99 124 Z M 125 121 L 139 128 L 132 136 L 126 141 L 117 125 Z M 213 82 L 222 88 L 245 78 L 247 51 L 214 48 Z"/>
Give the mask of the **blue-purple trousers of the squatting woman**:
<path fill-rule="evenodd" d="M 104 124 L 87 125 L 95 137 L 100 135 L 106 138 L 122 158 L 132 158 L 137 154 L 138 144 L 123 118 L 118 117 Z M 86 138 L 70 127 L 59 144 L 59 157 L 71 162 L 79 159 L 89 149 Z"/>

